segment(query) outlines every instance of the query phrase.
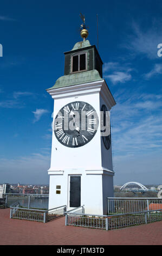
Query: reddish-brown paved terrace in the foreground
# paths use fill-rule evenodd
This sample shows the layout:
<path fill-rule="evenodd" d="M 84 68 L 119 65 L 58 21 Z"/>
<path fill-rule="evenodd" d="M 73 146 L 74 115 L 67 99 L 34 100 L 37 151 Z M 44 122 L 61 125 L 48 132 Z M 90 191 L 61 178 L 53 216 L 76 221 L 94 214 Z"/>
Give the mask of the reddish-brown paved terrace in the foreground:
<path fill-rule="evenodd" d="M 64 225 L 64 217 L 41 223 L 10 219 L 0 209 L 0 245 L 162 245 L 162 221 L 119 230 Z"/>

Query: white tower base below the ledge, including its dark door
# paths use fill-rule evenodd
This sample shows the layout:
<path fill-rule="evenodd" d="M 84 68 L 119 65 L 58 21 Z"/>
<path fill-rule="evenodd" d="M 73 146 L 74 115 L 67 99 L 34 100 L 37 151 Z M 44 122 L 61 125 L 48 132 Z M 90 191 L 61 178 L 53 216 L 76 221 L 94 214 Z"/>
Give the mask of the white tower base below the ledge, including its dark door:
<path fill-rule="evenodd" d="M 114 172 L 49 170 L 49 209 L 67 205 L 67 211 L 84 205 L 85 214 L 107 215 L 107 197 L 113 197 Z"/>

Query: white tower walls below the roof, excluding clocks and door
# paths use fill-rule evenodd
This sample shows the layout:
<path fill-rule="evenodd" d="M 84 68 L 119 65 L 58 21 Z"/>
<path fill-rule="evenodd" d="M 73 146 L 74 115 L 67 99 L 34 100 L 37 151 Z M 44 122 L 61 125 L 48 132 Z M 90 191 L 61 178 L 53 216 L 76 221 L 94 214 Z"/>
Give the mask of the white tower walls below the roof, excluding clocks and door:
<path fill-rule="evenodd" d="M 104 89 L 105 88 L 105 89 Z M 60 109 L 69 102 L 84 101 L 95 108 L 99 117 L 99 127 L 93 139 L 79 148 L 68 148 L 62 145 L 55 137 L 51 150 L 49 209 L 61 205 L 70 207 L 70 176 L 81 177 L 81 202 L 85 205 L 86 214 L 107 214 L 107 197 L 113 197 L 113 169 L 111 149 L 104 148 L 100 136 L 100 110 L 102 104 L 111 108 L 111 100 L 103 100 L 102 94 L 107 90 L 105 82 L 80 84 L 54 90 L 55 119 Z M 60 93 L 59 93 L 60 92 Z M 108 93 L 108 91 L 107 91 Z M 73 95 L 73 96 L 72 96 Z M 54 122 L 53 122 L 54 123 Z M 56 186 L 61 186 L 60 194 L 56 194 Z"/>

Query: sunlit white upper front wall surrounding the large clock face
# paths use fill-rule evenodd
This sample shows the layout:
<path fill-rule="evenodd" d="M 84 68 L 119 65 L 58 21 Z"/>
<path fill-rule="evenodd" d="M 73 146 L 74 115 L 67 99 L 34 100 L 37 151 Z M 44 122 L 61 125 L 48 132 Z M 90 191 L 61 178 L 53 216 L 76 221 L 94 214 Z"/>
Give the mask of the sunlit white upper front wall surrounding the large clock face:
<path fill-rule="evenodd" d="M 95 93 L 78 97 L 68 97 L 66 99 L 55 99 L 54 119 L 64 105 L 73 101 L 85 101 L 89 103 L 95 108 L 98 117 L 100 117 L 99 93 Z M 100 123 L 93 139 L 79 148 L 65 147 L 57 141 L 53 131 L 50 170 L 66 170 L 72 167 L 101 169 Z"/>

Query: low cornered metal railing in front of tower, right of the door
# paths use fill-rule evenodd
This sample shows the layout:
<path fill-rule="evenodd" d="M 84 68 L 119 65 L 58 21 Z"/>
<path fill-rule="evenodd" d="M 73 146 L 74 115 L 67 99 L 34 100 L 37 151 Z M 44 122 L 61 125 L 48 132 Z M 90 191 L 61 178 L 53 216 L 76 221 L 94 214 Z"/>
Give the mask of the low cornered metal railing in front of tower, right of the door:
<path fill-rule="evenodd" d="M 162 209 L 116 215 L 88 215 L 78 214 L 76 212 L 65 212 L 65 214 L 65 225 L 106 230 L 125 228 L 132 225 L 147 224 L 149 222 L 162 220 Z"/>

